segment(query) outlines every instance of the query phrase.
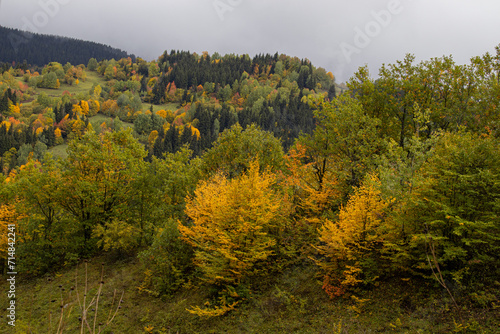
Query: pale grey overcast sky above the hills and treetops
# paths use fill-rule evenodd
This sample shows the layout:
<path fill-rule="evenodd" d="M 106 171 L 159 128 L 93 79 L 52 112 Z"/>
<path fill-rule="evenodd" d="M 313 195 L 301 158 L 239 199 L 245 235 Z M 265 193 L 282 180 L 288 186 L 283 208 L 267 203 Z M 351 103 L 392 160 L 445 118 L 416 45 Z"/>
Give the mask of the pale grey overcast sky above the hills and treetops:
<path fill-rule="evenodd" d="M 457 63 L 500 43 L 498 0 L 0 0 L 0 25 L 92 40 L 147 60 L 164 50 L 285 53 L 344 82 L 412 53 Z"/>

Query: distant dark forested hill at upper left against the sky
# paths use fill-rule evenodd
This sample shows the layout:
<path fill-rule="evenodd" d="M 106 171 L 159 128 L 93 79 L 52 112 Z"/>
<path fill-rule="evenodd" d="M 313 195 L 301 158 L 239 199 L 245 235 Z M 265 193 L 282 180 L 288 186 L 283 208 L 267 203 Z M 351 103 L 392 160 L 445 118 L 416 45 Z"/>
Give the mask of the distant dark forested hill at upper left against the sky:
<path fill-rule="evenodd" d="M 26 61 L 30 65 L 43 66 L 56 61 L 86 65 L 90 58 L 100 61 L 126 57 L 135 58 L 134 55 L 104 44 L 0 27 L 0 62 Z"/>

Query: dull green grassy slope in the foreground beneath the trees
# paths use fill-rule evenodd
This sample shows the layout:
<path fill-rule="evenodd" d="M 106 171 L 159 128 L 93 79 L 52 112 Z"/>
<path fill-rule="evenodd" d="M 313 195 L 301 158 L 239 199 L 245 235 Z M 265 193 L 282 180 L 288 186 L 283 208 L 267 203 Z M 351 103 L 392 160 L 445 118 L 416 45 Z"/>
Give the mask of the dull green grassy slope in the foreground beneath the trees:
<path fill-rule="evenodd" d="M 202 304 L 206 290 L 192 288 L 168 298 L 140 293 L 137 287 L 144 269 L 133 259 L 109 262 L 101 257 L 91 261 L 88 272 L 93 290 L 89 296 L 96 291 L 102 262 L 106 263 L 105 284 L 98 321 L 107 317 L 112 292 L 125 292 L 123 307 L 110 331 L 104 333 L 146 333 L 148 326 L 154 328 L 151 333 L 449 333 L 460 328 L 460 316 L 469 333 L 498 333 L 500 325 L 495 320 L 498 310 L 464 311 L 459 315 L 439 288 L 421 282 L 398 280 L 359 291 L 357 296 L 367 300 L 364 303 L 352 298 L 331 301 L 321 290 L 314 268 L 308 265 L 262 281 L 260 291 L 238 310 L 221 318 L 200 319 L 186 308 Z M 73 267 L 35 280 L 19 280 L 16 333 L 47 333 L 50 318 L 54 328 L 60 316 L 61 294 L 65 317 L 69 315 L 65 333 L 79 332 L 76 290 L 71 290 L 76 286 L 75 272 Z M 83 266 L 78 273 L 77 290 L 82 298 Z M 6 288 L 2 281 L 0 290 Z M 0 307 L 7 307 L 6 298 L 1 298 Z M 95 313 L 90 314 L 93 317 Z"/>

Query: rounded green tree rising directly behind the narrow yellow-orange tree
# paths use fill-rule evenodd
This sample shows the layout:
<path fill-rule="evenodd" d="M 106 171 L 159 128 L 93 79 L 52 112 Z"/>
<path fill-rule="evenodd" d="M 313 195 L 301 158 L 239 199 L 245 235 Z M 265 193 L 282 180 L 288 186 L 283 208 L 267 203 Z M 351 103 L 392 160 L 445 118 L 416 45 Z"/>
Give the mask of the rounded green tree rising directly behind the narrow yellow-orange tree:
<path fill-rule="evenodd" d="M 361 104 L 347 95 L 331 102 L 312 99 L 312 103 L 318 124 L 313 134 L 302 136 L 299 143 L 306 147 L 312 162 L 314 187 L 321 191 L 333 176 L 344 189 L 345 198 L 350 188 L 358 187 L 376 167 L 377 155 L 383 150 L 377 134 L 380 121 L 367 116 Z"/>

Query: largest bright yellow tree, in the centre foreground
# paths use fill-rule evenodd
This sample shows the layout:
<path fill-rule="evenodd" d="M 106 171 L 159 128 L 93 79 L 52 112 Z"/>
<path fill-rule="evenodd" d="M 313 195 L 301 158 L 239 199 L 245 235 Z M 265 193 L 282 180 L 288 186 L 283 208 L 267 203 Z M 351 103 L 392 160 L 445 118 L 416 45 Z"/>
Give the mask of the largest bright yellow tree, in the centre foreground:
<path fill-rule="evenodd" d="M 254 161 L 237 178 L 217 174 L 202 181 L 187 200 L 193 224 L 179 230 L 195 248 L 194 262 L 207 283 L 237 285 L 257 274 L 258 264 L 275 253 L 286 212 L 275 182 L 273 174 L 259 173 Z"/>

